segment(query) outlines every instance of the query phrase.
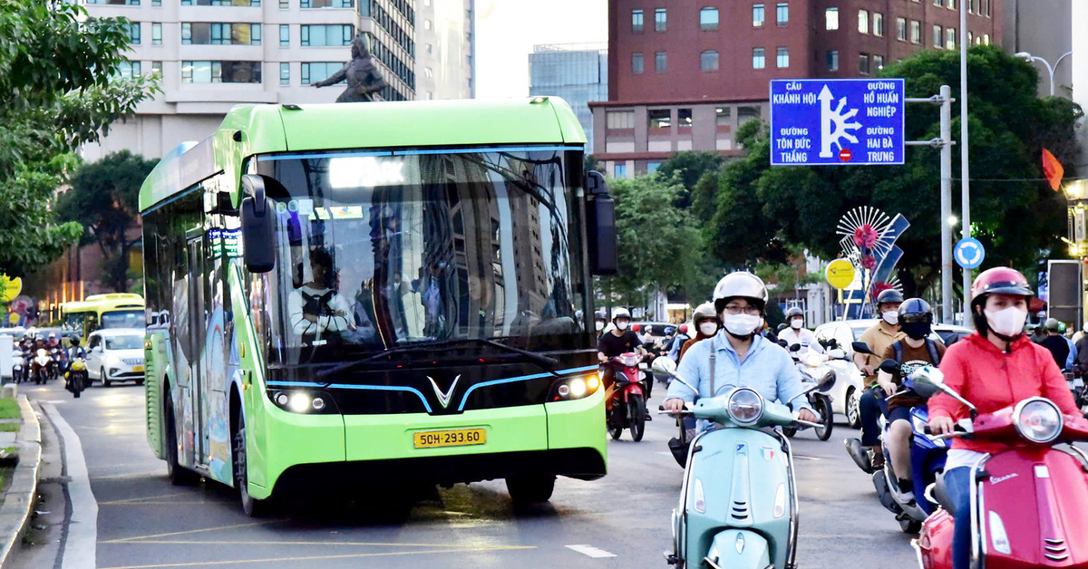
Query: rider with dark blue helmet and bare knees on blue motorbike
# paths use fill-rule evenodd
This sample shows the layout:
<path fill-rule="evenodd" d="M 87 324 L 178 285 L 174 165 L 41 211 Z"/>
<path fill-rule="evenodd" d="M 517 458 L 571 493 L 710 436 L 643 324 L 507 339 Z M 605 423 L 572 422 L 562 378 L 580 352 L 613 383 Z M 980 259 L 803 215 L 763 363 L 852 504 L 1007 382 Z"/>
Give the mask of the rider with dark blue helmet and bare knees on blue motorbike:
<path fill-rule="evenodd" d="M 934 310 L 929 302 L 920 298 L 907 298 L 899 306 L 899 325 L 905 337 L 897 339 L 883 352 L 886 360 L 899 362 L 899 372 L 890 374 L 883 370 L 877 371 L 877 384 L 888 395 L 888 433 L 885 444 L 891 466 L 899 477 L 900 494 L 897 498 L 903 504 L 914 499 L 914 482 L 911 478 L 911 408 L 926 405 L 926 399 L 906 392 L 899 392 L 903 378 L 910 376 L 914 370 L 924 366 L 939 366 L 944 355 L 944 344 L 929 339 L 932 331 Z M 923 490 L 923 488 L 918 488 Z M 894 488 L 892 488 L 894 493 Z"/>

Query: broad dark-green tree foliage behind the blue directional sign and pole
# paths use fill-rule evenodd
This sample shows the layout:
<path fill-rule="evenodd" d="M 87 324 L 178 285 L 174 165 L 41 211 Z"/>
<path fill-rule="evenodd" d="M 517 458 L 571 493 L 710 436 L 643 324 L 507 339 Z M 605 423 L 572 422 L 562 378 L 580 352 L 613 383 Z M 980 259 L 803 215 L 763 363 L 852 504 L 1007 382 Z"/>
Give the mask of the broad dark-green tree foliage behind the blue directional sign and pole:
<path fill-rule="evenodd" d="M 1038 72 L 1028 62 L 992 46 L 973 47 L 968 53 L 973 235 L 987 248 L 987 265 L 1033 268 L 1056 247 L 1065 231 L 1064 198 L 1042 181 L 1041 149 L 1054 152 L 1065 164 L 1066 176 L 1075 175 L 1074 126 L 1081 112 L 1065 99 L 1038 98 Z M 903 77 L 906 97 L 929 97 L 941 85 L 959 92 L 959 73 L 957 52 L 926 50 L 886 66 L 880 75 Z M 939 120 L 937 106 L 907 106 L 906 139 L 938 138 Z M 952 132 L 960 132 L 955 115 Z M 717 176 L 716 207 L 705 230 L 718 259 L 780 262 L 787 244 L 834 258 L 838 219 L 852 208 L 873 206 L 889 214 L 902 213 L 912 222 L 898 242 L 904 251 L 899 265 L 904 285 L 914 288 L 917 282 L 922 289 L 939 274 L 939 150 L 908 149 L 906 163 L 894 166 L 770 168 L 763 125 L 743 125 L 738 141 L 749 154 L 726 164 Z M 957 149 L 952 166 L 955 213 Z M 695 193 L 695 211 L 707 215 L 703 194 L 705 188 Z"/>

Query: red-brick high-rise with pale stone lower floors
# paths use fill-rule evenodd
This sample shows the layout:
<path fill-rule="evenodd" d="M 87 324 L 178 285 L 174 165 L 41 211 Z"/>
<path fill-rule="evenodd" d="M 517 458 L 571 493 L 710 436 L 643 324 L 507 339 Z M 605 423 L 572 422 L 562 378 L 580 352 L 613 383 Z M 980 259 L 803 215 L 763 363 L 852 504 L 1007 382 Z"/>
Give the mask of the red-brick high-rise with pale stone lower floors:
<path fill-rule="evenodd" d="M 1000 44 L 1002 0 L 967 3 L 972 44 Z M 616 177 L 679 150 L 740 151 L 771 79 L 866 77 L 922 49 L 957 49 L 957 0 L 608 0 L 608 100 L 593 154 Z"/>

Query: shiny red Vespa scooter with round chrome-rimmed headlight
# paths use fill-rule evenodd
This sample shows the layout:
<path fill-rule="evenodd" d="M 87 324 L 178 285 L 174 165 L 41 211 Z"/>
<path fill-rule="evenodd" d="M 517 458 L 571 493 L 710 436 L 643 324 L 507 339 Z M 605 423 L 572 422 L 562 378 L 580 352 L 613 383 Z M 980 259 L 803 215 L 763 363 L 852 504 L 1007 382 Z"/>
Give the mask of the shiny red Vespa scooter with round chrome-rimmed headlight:
<path fill-rule="evenodd" d="M 917 372 L 916 372 L 917 373 Z M 925 381 L 965 404 L 974 418 L 951 436 L 1002 443 L 972 469 L 973 567 L 985 569 L 1088 568 L 1088 421 L 1063 416 L 1053 401 L 1029 397 L 992 413 L 977 409 L 943 385 L 936 369 Z M 915 380 L 917 391 L 918 381 Z M 1058 447 L 1061 443 L 1068 446 Z M 953 520 L 939 481 L 927 491 L 941 508 L 923 523 L 913 545 L 923 569 L 951 569 Z"/>

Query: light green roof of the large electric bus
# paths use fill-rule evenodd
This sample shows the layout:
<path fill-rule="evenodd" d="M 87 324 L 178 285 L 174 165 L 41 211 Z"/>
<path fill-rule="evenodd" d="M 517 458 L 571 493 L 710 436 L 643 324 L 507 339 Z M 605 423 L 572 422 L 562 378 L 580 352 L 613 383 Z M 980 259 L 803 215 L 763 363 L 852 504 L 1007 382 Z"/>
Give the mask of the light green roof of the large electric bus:
<path fill-rule="evenodd" d="M 584 145 L 585 133 L 570 106 L 556 97 L 239 104 L 211 137 L 184 144 L 159 162 L 140 188 L 139 209 L 145 211 L 217 172 L 239 172 L 240 160 L 254 154 L 516 144 Z M 237 188 L 232 191 L 237 203 Z"/>

